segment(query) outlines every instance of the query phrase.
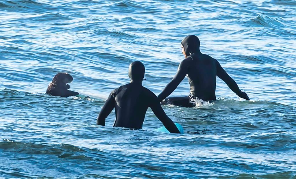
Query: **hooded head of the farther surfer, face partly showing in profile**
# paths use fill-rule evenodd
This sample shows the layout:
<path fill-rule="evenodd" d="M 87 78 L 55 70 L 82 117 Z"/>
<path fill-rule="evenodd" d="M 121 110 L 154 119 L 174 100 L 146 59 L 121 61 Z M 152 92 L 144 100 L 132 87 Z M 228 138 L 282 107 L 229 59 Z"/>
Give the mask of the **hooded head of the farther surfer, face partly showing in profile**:
<path fill-rule="evenodd" d="M 181 44 L 185 52 L 185 58 L 192 53 L 200 52 L 200 39 L 198 39 L 197 36 L 194 36 L 194 35 L 186 36 L 182 40 Z"/>

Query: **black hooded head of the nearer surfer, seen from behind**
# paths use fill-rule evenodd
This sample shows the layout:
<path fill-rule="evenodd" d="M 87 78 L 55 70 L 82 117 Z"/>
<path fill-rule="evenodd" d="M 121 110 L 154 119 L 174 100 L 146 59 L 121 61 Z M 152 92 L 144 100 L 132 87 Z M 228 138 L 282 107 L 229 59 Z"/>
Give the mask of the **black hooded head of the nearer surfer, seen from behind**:
<path fill-rule="evenodd" d="M 128 69 L 128 76 L 132 82 L 141 82 L 144 79 L 145 67 L 140 61 L 134 61 L 130 64 Z"/>

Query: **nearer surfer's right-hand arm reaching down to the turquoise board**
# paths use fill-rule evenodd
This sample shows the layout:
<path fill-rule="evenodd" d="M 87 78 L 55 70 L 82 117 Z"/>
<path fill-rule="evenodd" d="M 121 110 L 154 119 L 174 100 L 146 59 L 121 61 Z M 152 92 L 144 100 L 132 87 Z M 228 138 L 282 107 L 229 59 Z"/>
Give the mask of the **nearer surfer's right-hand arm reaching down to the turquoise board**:
<path fill-rule="evenodd" d="M 151 99 L 152 103 L 150 108 L 152 109 L 155 116 L 163 123 L 165 128 L 170 131 L 170 133 L 180 133 L 174 122 L 165 114 L 155 94 L 153 94 Z"/>

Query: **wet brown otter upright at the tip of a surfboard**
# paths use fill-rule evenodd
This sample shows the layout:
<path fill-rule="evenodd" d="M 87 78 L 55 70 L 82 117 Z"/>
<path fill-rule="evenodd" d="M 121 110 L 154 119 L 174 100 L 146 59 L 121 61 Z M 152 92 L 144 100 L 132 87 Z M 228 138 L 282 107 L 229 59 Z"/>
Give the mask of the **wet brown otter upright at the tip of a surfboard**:
<path fill-rule="evenodd" d="M 70 74 L 58 73 L 54 75 L 52 82 L 49 83 L 46 94 L 61 97 L 78 95 L 78 92 L 68 90 L 70 88 L 70 85 L 68 85 L 67 83 L 71 83 L 72 81 L 73 77 Z"/>

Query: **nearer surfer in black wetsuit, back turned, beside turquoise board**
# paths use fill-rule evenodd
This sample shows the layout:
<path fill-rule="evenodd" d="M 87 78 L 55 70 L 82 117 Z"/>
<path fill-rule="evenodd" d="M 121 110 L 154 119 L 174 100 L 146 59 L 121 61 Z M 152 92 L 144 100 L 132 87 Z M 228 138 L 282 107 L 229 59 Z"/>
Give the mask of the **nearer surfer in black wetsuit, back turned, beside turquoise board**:
<path fill-rule="evenodd" d="M 113 90 L 102 110 L 96 124 L 105 125 L 106 117 L 115 108 L 116 119 L 114 127 L 141 129 L 148 107 L 171 133 L 180 133 L 176 125 L 165 114 L 160 106 L 157 96 L 142 86 L 145 67 L 139 62 L 132 62 L 129 66 L 128 76 L 130 83 Z"/>

